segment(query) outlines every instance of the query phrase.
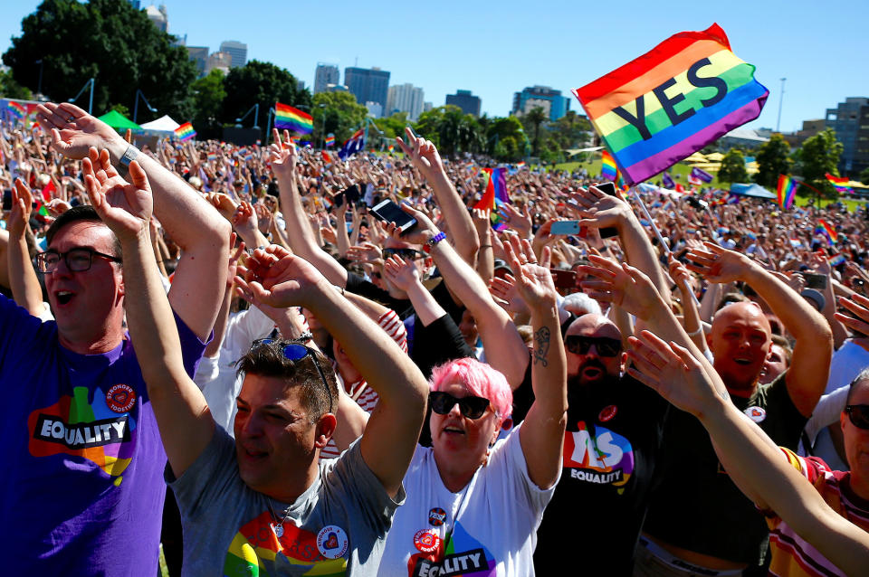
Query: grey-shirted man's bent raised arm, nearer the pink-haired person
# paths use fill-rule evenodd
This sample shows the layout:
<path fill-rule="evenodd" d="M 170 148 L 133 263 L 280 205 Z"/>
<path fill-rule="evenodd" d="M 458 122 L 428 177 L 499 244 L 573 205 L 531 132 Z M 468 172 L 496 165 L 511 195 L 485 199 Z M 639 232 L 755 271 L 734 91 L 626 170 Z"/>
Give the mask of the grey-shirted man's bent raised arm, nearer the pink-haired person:
<path fill-rule="evenodd" d="M 345 349 L 350 361 L 380 397 L 362 435 L 362 458 L 395 496 L 401 487 L 425 416 L 428 383 L 374 321 L 342 298 L 310 263 L 272 245 L 254 251 L 248 283 L 259 300 L 274 307 L 309 309 Z M 250 260 L 249 260 L 250 261 Z"/>

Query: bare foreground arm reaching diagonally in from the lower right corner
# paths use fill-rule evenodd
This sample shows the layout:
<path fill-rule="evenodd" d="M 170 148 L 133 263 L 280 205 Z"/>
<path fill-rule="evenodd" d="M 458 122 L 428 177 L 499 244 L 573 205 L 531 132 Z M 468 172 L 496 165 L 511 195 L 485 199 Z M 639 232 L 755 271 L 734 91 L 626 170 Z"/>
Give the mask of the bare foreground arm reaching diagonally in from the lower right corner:
<path fill-rule="evenodd" d="M 628 372 L 702 422 L 721 465 L 746 496 L 775 511 L 846 574 L 865 572 L 869 534 L 830 508 L 772 440 L 740 413 L 724 383 L 713 382 L 718 377 L 711 366 L 702 368 L 704 359 L 648 332 L 632 343 L 628 355 L 636 368 Z"/>

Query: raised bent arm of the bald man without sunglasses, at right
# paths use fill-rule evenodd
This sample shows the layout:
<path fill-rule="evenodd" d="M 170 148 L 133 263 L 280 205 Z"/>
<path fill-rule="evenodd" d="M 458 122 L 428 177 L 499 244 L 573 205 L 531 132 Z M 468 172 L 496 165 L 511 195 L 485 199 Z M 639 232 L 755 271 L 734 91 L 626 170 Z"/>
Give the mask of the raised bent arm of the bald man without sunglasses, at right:
<path fill-rule="evenodd" d="M 793 361 L 785 376 L 788 393 L 797 410 L 811 416 L 824 393 L 833 357 L 833 335 L 826 319 L 795 290 L 739 252 L 707 242 L 705 250 L 692 250 L 688 258 L 695 263 L 688 268 L 711 282 L 748 283 L 781 319 L 796 339 Z"/>

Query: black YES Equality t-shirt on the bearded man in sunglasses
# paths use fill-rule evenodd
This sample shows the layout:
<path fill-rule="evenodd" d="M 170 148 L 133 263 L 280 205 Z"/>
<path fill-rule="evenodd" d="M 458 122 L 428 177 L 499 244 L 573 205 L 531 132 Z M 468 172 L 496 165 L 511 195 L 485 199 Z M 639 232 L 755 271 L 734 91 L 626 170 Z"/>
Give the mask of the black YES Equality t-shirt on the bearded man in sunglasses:
<path fill-rule="evenodd" d="M 549 574 L 569 554 L 584 575 L 630 575 L 670 405 L 625 376 L 569 387 L 568 407 L 564 468 L 534 565 Z"/>

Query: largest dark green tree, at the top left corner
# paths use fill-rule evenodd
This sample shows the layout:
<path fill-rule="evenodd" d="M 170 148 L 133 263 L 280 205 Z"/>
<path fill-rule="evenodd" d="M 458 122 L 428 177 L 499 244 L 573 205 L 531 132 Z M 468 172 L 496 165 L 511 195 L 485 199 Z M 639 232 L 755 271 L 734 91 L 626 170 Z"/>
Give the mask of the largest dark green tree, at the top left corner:
<path fill-rule="evenodd" d="M 43 61 L 43 92 L 70 99 L 94 78 L 93 112 L 112 104 L 135 106 L 136 90 L 161 114 L 178 120 L 192 114 L 190 82 L 196 66 L 183 46 L 160 32 L 143 11 L 129 2 L 44 0 L 24 17 L 22 35 L 12 39 L 3 61 L 14 80 L 36 90 Z M 87 108 L 85 93 L 77 104 Z"/>

